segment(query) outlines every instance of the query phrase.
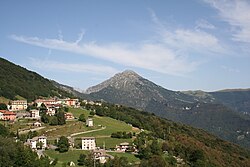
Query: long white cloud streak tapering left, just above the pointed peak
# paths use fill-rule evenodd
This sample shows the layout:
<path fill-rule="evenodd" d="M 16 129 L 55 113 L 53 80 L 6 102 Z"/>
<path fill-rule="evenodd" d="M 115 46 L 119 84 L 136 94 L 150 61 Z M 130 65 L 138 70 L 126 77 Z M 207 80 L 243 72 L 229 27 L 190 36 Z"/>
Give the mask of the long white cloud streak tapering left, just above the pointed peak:
<path fill-rule="evenodd" d="M 139 67 L 172 75 L 182 75 L 195 70 L 196 63 L 177 56 L 162 44 L 142 43 L 138 46 L 111 43 L 99 45 L 88 42 L 78 44 L 58 39 L 40 39 L 11 35 L 11 38 L 30 45 L 68 51 L 85 56 L 101 58 L 127 67 Z"/>

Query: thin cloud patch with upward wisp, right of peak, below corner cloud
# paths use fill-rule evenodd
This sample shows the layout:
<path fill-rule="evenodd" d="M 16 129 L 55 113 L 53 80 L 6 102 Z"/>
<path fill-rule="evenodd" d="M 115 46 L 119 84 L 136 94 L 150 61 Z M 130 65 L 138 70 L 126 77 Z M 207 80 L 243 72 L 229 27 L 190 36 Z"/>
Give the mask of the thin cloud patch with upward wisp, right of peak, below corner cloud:
<path fill-rule="evenodd" d="M 151 17 L 157 25 L 157 32 L 162 37 L 162 42 L 172 50 L 179 50 L 186 55 L 193 52 L 203 55 L 226 53 L 226 49 L 219 39 L 212 34 L 197 29 L 197 27 L 195 29 L 176 28 L 172 30 L 160 22 L 153 11 L 151 11 Z M 212 25 L 209 26 L 212 27 Z"/>

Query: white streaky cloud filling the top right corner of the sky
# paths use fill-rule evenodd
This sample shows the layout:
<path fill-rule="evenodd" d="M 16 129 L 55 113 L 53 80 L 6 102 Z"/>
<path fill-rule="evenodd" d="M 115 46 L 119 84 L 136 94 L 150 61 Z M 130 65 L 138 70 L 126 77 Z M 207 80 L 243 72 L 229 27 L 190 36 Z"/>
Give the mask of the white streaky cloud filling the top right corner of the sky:
<path fill-rule="evenodd" d="M 220 18 L 232 26 L 232 39 L 250 43 L 250 1 L 204 0 L 218 10 Z"/>

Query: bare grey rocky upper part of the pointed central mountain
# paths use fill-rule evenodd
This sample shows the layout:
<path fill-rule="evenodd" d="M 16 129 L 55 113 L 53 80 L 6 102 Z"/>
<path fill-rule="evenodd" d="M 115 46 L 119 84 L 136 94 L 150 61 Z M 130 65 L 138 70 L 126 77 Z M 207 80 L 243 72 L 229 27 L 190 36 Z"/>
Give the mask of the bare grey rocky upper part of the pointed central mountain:
<path fill-rule="evenodd" d="M 146 109 L 154 102 L 173 108 L 180 108 L 183 103 L 195 102 L 194 97 L 190 95 L 164 89 L 130 70 L 118 73 L 101 84 L 88 88 L 86 93 L 94 99 L 140 109 Z M 151 108 L 148 111 L 151 111 Z"/>

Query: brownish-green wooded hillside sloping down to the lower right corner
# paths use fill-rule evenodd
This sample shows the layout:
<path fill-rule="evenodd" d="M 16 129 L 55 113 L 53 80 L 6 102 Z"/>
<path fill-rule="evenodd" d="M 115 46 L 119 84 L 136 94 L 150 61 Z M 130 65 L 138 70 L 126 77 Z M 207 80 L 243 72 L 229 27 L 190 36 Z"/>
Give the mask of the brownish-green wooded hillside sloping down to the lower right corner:
<path fill-rule="evenodd" d="M 183 158 L 188 166 L 247 167 L 250 164 L 249 150 L 218 139 L 201 129 L 120 105 L 103 104 L 92 109 L 99 116 L 109 116 L 148 131 L 140 134 L 135 141 L 142 164 L 151 162 L 152 157 L 160 160 L 157 148 L 147 147 L 147 143 L 152 140 L 154 142 L 155 139 L 163 140 L 166 151 L 170 155 Z"/>

